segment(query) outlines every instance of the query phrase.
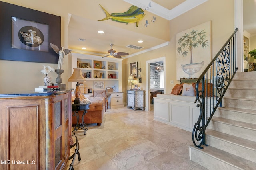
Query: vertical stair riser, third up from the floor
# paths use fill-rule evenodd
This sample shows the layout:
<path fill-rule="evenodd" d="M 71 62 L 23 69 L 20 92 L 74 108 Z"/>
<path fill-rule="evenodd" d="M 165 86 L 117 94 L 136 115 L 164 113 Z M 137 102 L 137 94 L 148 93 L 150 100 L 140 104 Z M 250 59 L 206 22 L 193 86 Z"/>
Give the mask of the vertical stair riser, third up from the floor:
<path fill-rule="evenodd" d="M 256 142 L 256 131 L 252 129 L 246 129 L 213 120 L 209 123 L 207 128 Z"/>

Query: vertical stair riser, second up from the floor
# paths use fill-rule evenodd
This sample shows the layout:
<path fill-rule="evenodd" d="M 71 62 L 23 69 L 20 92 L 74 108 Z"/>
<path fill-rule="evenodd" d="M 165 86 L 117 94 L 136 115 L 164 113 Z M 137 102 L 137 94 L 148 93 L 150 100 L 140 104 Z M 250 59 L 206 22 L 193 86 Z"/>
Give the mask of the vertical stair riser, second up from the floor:
<path fill-rule="evenodd" d="M 206 134 L 206 143 L 212 147 L 215 147 L 225 152 L 229 152 L 236 156 L 240 156 L 244 159 L 250 160 L 256 163 L 256 150 L 248 149 L 233 143 L 220 140 L 216 137 Z"/>

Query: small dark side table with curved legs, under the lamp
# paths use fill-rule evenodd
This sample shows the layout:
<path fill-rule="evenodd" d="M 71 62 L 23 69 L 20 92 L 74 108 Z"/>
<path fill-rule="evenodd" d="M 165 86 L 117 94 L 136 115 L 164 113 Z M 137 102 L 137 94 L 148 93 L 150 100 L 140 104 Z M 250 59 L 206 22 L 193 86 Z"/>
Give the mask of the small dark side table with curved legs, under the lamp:
<path fill-rule="evenodd" d="M 89 109 L 90 102 L 80 102 L 79 104 L 74 104 L 72 102 L 72 116 L 76 116 L 76 126 L 74 127 L 72 131 L 72 135 L 75 135 L 74 131 L 77 131 L 79 128 L 84 130 L 84 135 L 86 135 L 86 131 L 88 130 L 88 126 L 84 123 L 84 115 L 87 113 L 87 110 Z M 84 111 L 82 114 L 82 122 L 79 123 L 79 113 L 78 111 Z"/>

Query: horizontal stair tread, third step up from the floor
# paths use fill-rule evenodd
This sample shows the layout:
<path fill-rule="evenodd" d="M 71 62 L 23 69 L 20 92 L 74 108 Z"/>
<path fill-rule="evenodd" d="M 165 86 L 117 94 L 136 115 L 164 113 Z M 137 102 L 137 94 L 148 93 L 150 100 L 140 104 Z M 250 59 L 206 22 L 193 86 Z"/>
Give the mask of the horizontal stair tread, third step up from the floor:
<path fill-rule="evenodd" d="M 218 122 L 239 126 L 239 127 L 244 127 L 244 128 L 256 131 L 256 125 L 252 123 L 246 123 L 246 122 L 236 121 L 231 119 L 224 119 L 222 117 L 212 117 L 212 121 L 218 121 Z"/>

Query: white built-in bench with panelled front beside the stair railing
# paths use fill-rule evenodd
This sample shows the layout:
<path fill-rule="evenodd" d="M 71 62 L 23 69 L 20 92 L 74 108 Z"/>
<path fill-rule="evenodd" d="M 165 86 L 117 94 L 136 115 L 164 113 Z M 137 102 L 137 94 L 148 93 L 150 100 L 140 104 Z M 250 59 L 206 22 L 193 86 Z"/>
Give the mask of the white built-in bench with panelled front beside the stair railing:
<path fill-rule="evenodd" d="M 157 94 L 154 97 L 154 120 L 192 132 L 200 114 L 195 99 L 195 96 Z"/>

